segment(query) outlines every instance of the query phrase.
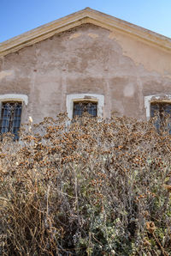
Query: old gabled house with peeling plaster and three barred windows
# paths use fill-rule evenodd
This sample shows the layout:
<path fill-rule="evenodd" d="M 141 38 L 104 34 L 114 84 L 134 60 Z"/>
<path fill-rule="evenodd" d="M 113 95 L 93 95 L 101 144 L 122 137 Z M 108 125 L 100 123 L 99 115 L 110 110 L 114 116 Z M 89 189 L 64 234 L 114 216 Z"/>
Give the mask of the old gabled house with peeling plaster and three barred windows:
<path fill-rule="evenodd" d="M 171 39 L 86 8 L 0 44 L 1 132 L 88 111 L 171 109 Z"/>

